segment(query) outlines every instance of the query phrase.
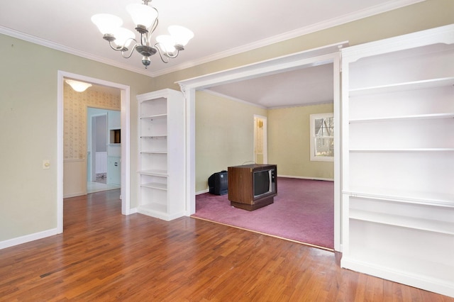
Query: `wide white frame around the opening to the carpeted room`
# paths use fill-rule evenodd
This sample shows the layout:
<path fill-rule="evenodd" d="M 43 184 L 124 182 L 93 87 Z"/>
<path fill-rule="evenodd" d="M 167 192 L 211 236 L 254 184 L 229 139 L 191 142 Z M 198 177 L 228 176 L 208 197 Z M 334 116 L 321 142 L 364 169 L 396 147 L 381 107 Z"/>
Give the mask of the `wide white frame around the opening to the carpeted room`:
<path fill-rule="evenodd" d="M 190 216 L 196 211 L 195 201 L 195 103 L 196 90 L 219 84 L 228 84 L 270 74 L 292 71 L 304 67 L 333 64 L 333 111 L 334 111 L 334 250 L 342 251 L 341 245 L 341 48 L 348 41 L 296 52 L 238 68 L 227 69 L 201 77 L 177 82 L 186 99 L 186 211 Z"/>

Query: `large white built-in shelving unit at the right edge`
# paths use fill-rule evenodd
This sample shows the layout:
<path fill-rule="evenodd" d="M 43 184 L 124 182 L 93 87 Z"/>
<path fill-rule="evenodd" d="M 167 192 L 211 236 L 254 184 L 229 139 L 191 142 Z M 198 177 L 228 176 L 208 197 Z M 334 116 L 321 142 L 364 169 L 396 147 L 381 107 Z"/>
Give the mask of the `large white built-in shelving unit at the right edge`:
<path fill-rule="evenodd" d="M 342 60 L 341 266 L 454 296 L 454 25 Z"/>

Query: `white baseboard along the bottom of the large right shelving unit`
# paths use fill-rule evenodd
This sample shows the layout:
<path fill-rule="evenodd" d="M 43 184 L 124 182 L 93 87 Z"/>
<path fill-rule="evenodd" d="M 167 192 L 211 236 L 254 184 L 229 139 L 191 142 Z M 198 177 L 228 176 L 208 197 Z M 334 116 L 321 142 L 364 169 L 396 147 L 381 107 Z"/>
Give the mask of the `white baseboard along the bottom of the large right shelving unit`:
<path fill-rule="evenodd" d="M 436 279 L 411 272 L 402 272 L 390 267 L 361 262 L 345 256 L 341 259 L 341 267 L 454 298 L 454 281 Z"/>

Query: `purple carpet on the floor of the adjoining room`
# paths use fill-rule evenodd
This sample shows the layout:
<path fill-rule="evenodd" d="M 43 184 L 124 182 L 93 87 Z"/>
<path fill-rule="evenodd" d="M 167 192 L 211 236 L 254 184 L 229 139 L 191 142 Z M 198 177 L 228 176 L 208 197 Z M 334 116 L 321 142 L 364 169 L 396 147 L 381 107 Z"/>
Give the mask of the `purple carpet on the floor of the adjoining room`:
<path fill-rule="evenodd" d="M 255 211 L 233 208 L 227 194 L 200 194 L 192 217 L 333 249 L 333 181 L 279 177 L 275 203 Z"/>

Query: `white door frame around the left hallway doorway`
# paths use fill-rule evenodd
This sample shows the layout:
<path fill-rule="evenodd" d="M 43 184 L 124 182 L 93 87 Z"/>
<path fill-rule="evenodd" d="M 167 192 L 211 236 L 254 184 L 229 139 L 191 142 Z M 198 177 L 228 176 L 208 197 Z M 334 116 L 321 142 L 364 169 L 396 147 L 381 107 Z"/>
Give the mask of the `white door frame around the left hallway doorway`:
<path fill-rule="evenodd" d="M 121 213 L 131 213 L 131 88 L 124 84 L 86 77 L 62 70 L 57 71 L 57 233 L 63 232 L 63 82 L 76 79 L 101 86 L 120 89 L 121 99 Z"/>

